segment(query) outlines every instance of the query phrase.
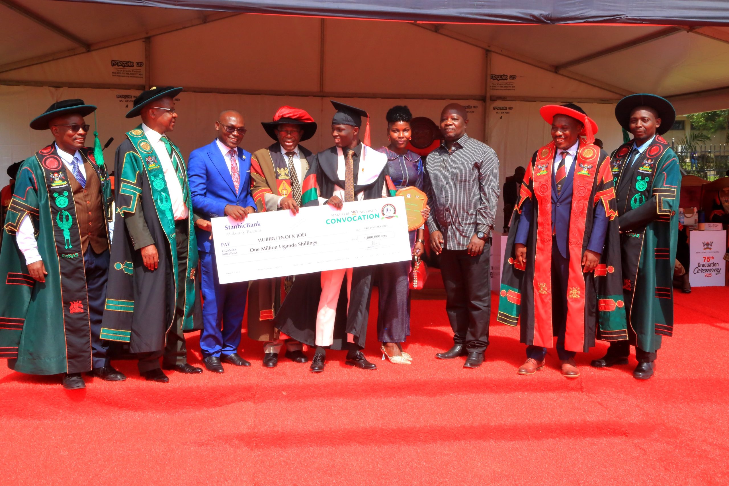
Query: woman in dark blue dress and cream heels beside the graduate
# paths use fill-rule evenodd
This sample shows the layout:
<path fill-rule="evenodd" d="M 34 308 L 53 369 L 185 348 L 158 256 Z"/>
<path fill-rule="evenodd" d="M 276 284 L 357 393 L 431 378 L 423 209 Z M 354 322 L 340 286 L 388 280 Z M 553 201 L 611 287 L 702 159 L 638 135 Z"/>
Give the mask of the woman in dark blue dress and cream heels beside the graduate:
<path fill-rule="evenodd" d="M 410 120 L 413 115 L 407 106 L 393 106 L 387 112 L 388 146 L 378 149 L 387 155 L 390 178 L 397 189 L 414 186 L 423 189 L 423 161 L 408 150 L 412 136 Z M 426 206 L 425 216 L 430 209 Z M 424 227 L 410 232 L 410 248 L 414 256 L 424 254 Z M 410 289 L 408 274 L 410 262 L 394 262 L 380 266 L 378 340 L 382 342 L 383 359 L 395 364 L 410 364 L 413 358 L 402 350 L 402 343 L 410 336 Z"/>

